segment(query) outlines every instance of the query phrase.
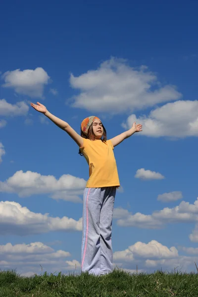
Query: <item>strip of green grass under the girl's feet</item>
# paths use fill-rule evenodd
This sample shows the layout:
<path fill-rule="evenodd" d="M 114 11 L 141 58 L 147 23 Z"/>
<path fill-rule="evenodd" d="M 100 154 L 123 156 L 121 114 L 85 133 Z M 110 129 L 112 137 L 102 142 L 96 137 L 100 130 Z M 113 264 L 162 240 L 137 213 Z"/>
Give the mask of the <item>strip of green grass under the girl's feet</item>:
<path fill-rule="evenodd" d="M 105 276 L 45 272 L 22 277 L 0 272 L 0 297 L 198 297 L 198 274 L 156 271 L 129 274 L 119 269 Z"/>

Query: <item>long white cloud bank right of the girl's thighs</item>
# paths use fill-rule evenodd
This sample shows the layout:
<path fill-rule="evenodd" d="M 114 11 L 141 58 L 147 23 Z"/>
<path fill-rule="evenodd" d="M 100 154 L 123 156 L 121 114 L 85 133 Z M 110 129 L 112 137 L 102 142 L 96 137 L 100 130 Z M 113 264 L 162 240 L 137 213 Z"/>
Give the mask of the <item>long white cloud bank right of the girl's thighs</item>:
<path fill-rule="evenodd" d="M 194 204 L 182 201 L 178 206 L 173 208 L 165 207 L 162 210 L 153 211 L 152 214 L 142 214 L 137 212 L 131 214 L 128 210 L 117 209 L 117 225 L 122 227 L 138 227 L 146 229 L 161 228 L 168 223 L 197 223 L 198 222 L 198 198 Z M 119 218 L 120 214 L 120 218 Z M 115 217 L 115 218 L 116 218 Z M 190 235 L 192 241 L 198 242 L 198 226 Z"/>

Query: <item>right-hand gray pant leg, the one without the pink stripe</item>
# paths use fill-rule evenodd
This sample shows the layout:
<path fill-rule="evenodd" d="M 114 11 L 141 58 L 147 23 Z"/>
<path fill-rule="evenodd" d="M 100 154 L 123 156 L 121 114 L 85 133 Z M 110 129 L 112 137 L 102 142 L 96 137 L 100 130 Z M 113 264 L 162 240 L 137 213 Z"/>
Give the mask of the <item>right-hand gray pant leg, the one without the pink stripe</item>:
<path fill-rule="evenodd" d="M 100 274 L 112 271 L 113 250 L 111 243 L 113 206 L 116 187 L 105 188 L 105 195 L 100 212 Z"/>

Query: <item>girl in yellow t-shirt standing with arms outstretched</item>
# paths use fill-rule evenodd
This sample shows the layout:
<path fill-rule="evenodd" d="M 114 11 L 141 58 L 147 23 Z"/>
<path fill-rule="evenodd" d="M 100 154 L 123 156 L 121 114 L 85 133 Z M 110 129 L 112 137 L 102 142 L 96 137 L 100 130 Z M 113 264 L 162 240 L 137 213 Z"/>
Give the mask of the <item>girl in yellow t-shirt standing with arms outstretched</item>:
<path fill-rule="evenodd" d="M 98 117 L 90 116 L 82 121 L 80 136 L 43 104 L 31 103 L 31 106 L 67 132 L 89 164 L 90 177 L 83 197 L 81 267 L 90 274 L 107 274 L 112 271 L 111 226 L 116 188 L 120 186 L 113 148 L 135 132 L 142 131 L 142 125 L 134 122 L 128 131 L 106 140 L 102 122 Z"/>

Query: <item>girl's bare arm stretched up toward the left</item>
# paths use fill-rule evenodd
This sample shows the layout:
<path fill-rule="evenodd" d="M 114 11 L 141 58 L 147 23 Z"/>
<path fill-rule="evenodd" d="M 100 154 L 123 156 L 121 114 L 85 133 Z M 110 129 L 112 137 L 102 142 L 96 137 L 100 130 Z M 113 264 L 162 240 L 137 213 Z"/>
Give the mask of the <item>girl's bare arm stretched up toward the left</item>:
<path fill-rule="evenodd" d="M 83 138 L 65 121 L 59 119 L 55 115 L 51 114 L 46 106 L 43 104 L 37 102 L 37 104 L 31 103 L 31 106 L 36 109 L 37 111 L 43 113 L 45 116 L 47 116 L 56 126 L 58 126 L 60 129 L 67 132 L 67 134 L 77 143 L 79 147 L 83 146 Z"/>

